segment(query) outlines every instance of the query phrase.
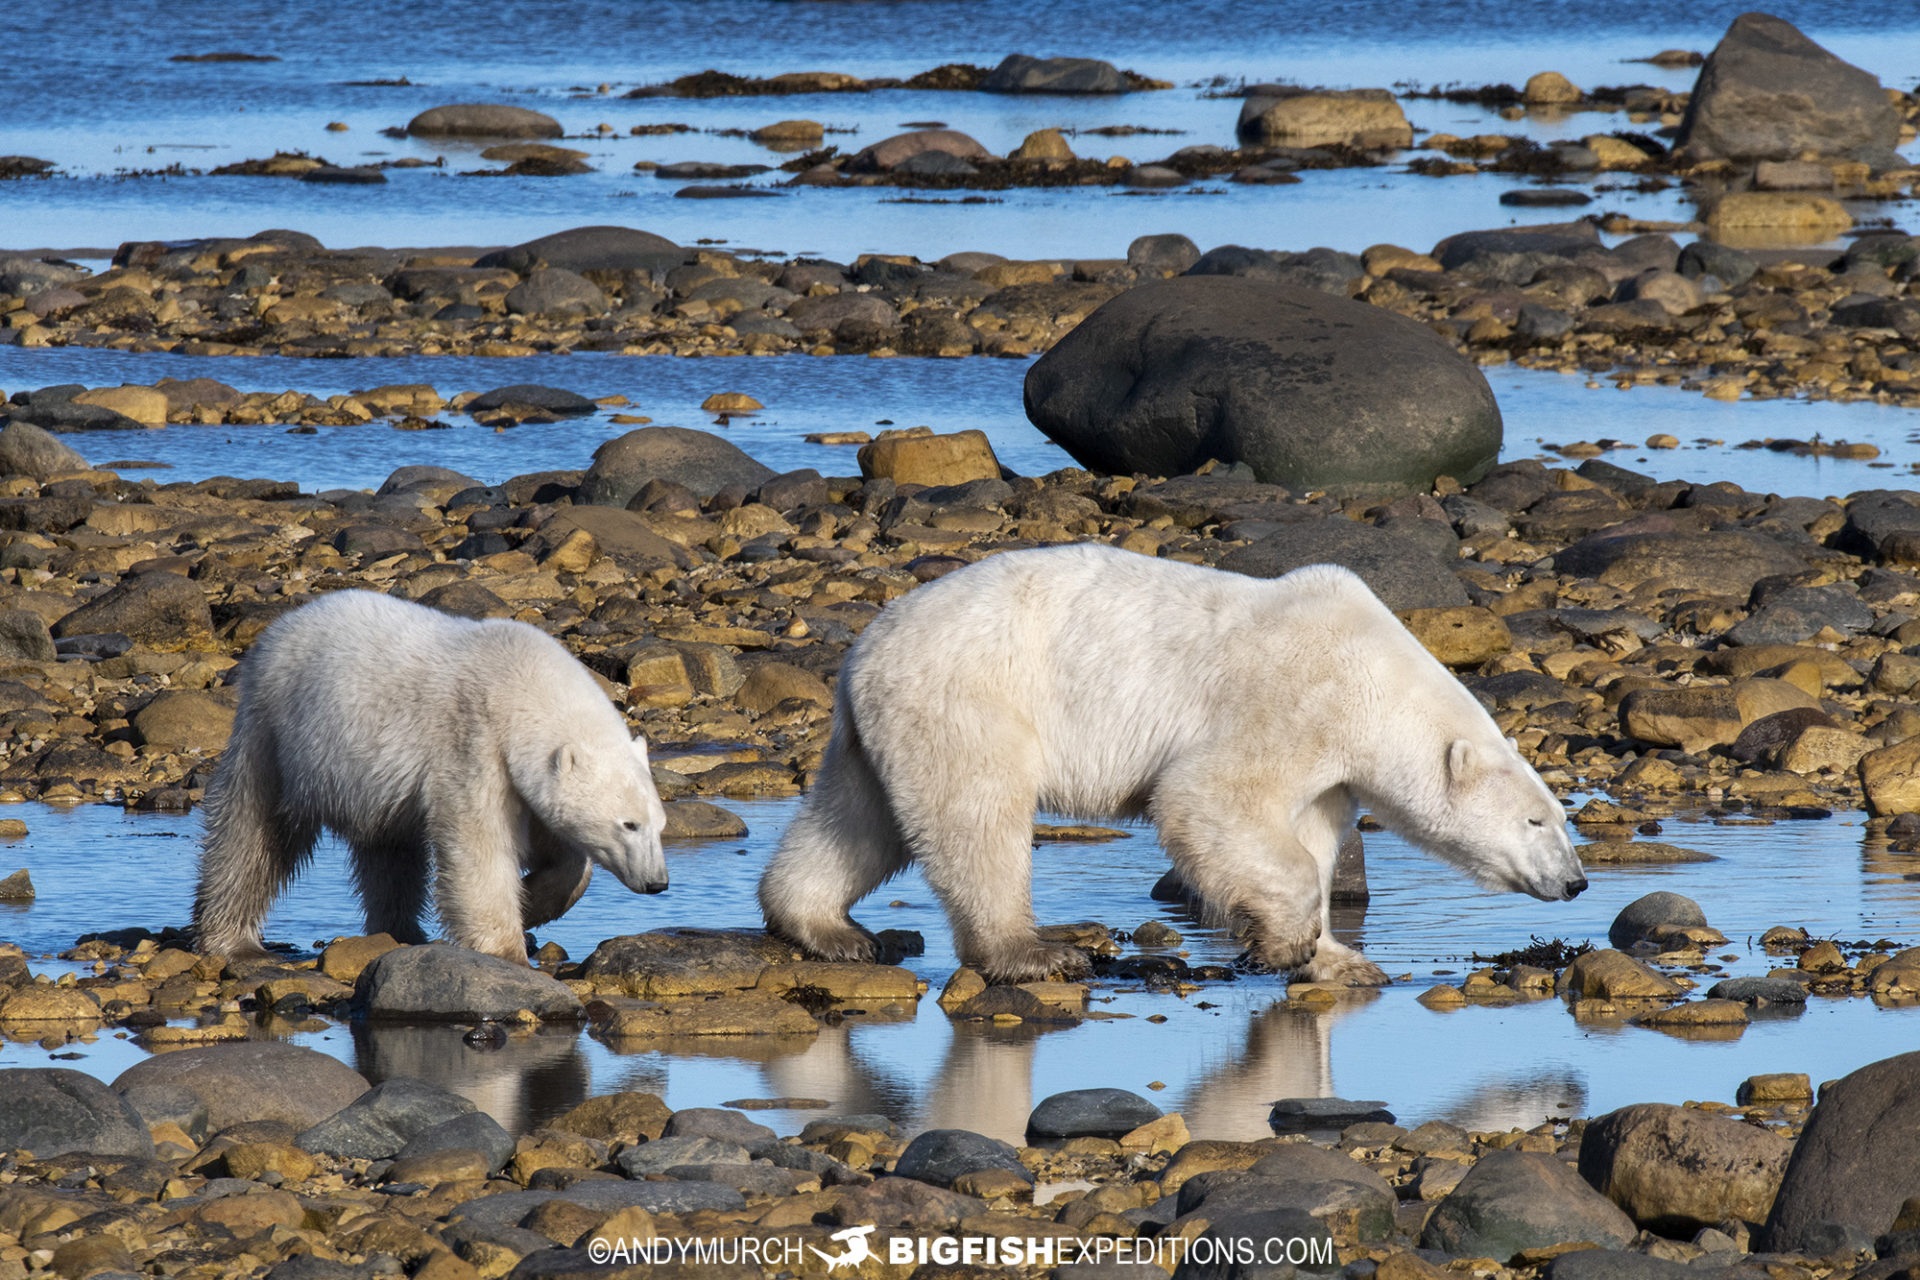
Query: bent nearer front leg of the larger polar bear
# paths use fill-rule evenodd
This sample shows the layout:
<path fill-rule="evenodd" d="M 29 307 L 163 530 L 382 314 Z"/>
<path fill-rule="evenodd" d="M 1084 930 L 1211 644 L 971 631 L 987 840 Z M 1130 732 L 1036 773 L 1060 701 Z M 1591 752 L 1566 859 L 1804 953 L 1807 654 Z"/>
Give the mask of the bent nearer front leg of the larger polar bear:
<path fill-rule="evenodd" d="M 1208 917 L 1242 929 L 1267 969 L 1306 971 L 1331 942 L 1321 938 L 1319 865 L 1263 808 L 1265 796 L 1240 802 L 1190 785 L 1160 787 L 1150 806 L 1160 842 Z"/>

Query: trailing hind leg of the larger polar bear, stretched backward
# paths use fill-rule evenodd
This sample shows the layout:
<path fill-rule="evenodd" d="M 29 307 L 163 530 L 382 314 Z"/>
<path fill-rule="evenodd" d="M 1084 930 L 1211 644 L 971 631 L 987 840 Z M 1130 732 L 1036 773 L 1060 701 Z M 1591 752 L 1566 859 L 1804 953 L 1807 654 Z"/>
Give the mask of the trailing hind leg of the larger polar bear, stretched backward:
<path fill-rule="evenodd" d="M 816 960 L 874 960 L 874 935 L 849 912 L 906 860 L 874 766 L 860 743 L 835 725 L 820 777 L 760 877 L 766 931 Z"/>

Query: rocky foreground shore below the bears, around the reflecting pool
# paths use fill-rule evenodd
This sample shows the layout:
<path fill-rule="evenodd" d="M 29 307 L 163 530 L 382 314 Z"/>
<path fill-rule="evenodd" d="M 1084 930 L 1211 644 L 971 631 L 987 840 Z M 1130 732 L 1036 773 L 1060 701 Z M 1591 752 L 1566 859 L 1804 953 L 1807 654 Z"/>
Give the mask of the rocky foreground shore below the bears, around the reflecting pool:
<path fill-rule="evenodd" d="M 340 1061 L 273 1036 L 311 1029 L 321 1006 L 372 1025 L 438 1023 L 438 1034 L 467 1031 L 482 1048 L 586 1021 L 616 1052 L 645 1052 L 662 1036 L 804 1038 L 818 1019 L 910 1017 L 922 984 L 904 969 L 801 963 L 762 935 L 697 929 L 611 938 L 584 965 L 561 965 L 564 981 L 384 936 L 252 967 L 131 935 L 71 956 L 102 973 L 19 986 L 8 1006 L 38 992 L 50 1009 L 111 986 L 121 998 L 150 992 L 146 1036 L 167 1027 L 161 1006 L 205 1006 L 209 1017 L 198 1038 L 154 1042 L 173 1052 L 111 1088 L 58 1067 L 0 1073 L 0 1150 L 13 1151 L 0 1157 L 0 1274 L 13 1278 L 639 1274 L 605 1270 L 611 1242 L 626 1244 L 612 1261 L 630 1267 L 636 1244 L 660 1242 L 666 1253 L 649 1257 L 674 1261 L 664 1274 L 818 1276 L 826 1267 L 804 1245 L 831 1257 L 833 1234 L 854 1226 L 877 1228 L 881 1255 L 860 1274 L 902 1278 L 1006 1274 L 956 1268 L 979 1253 L 935 1253 L 943 1268 L 927 1270 L 931 1249 L 960 1247 L 937 1238 L 1052 1242 L 1006 1257 L 1018 1274 L 1062 1278 L 1108 1274 L 1075 1265 L 1085 1259 L 1162 1268 L 1129 1270 L 1142 1276 L 1893 1280 L 1920 1255 L 1920 1197 L 1907 1196 L 1920 1054 L 1824 1084 L 1818 1103 L 1805 1075 L 1761 1075 L 1734 1102 L 1642 1103 L 1503 1132 L 1400 1125 L 1379 1102 L 1283 1098 L 1271 1138 L 1229 1142 L 1190 1134 L 1139 1094 L 1087 1088 L 1043 1100 L 1021 1146 L 831 1113 L 780 1138 L 751 1111 L 828 1103 L 670 1111 L 647 1092 L 591 1098 L 509 1134 L 442 1084 L 397 1075 L 369 1088 Z M 1578 958 L 1567 969 L 1576 1013 L 1659 1007 L 1580 990 L 1582 971 L 1619 983 L 1630 967 L 1657 977 L 1622 952 Z M 1085 1007 L 1085 986 L 970 994 L 968 973 L 941 994 L 950 1015 L 1018 1023 L 1016 996 L 1043 1021 Z M 1538 986 L 1524 965 L 1511 975 Z M 995 1011 L 972 1007 L 995 990 L 1006 996 Z M 58 1038 L 52 1011 L 42 1023 Z M 1870 1144 L 1857 1142 L 1862 1132 Z M 914 1244 L 893 1253 L 891 1238 Z M 1313 1253 L 1273 1259 L 1284 1270 L 1260 1268 L 1258 1255 L 1210 1257 L 1236 1238 Z M 695 1240 L 751 1240 L 758 1251 L 718 1267 L 678 1259 Z"/>

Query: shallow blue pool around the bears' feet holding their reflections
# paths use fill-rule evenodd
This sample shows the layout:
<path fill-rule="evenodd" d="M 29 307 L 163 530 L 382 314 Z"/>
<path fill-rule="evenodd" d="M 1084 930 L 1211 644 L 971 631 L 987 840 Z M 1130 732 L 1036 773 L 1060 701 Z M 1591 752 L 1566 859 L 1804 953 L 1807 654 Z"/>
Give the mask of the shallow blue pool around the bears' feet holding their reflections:
<path fill-rule="evenodd" d="M 666 925 L 753 927 L 753 887 L 795 800 L 730 802 L 751 831 L 741 841 L 680 844 L 668 854 L 672 890 L 637 898 L 599 875 L 586 898 L 541 940 L 576 960 L 607 936 Z M 0 938 L 38 960 L 84 933 L 129 925 L 184 925 L 194 887 L 198 816 L 125 814 L 106 806 L 21 806 L 31 835 L 0 846 L 0 873 L 27 867 L 38 889 L 29 906 L 0 908 Z M 657 1092 L 672 1107 L 758 1098 L 810 1098 L 833 1113 L 877 1111 L 908 1128 L 958 1126 L 1018 1142 L 1041 1098 L 1087 1086 L 1121 1086 L 1181 1111 L 1196 1136 L 1267 1132 L 1277 1098 L 1377 1098 L 1402 1123 L 1448 1119 L 1471 1128 L 1532 1126 L 1546 1117 L 1596 1115 L 1630 1102 L 1732 1102 L 1763 1071 L 1805 1071 L 1814 1082 L 1920 1042 L 1920 1009 L 1864 998 L 1814 996 L 1805 1011 L 1761 1017 L 1734 1040 L 1682 1040 L 1657 1031 L 1574 1021 L 1561 1000 L 1432 1011 L 1417 996 L 1478 967 L 1471 954 L 1524 946 L 1532 935 L 1592 938 L 1634 898 L 1665 889 L 1695 898 L 1732 942 L 1709 954 L 1730 975 L 1782 963 L 1757 944 L 1770 925 L 1816 936 L 1920 940 L 1920 856 L 1862 842 L 1857 814 L 1774 825 L 1667 819 L 1661 837 L 1713 854 L 1713 862 L 1659 867 L 1590 867 L 1594 887 L 1571 904 L 1486 894 L 1463 875 L 1369 833 L 1373 898 L 1346 912 L 1340 935 L 1382 963 L 1396 983 L 1356 992 L 1325 1011 L 1284 1000 L 1284 981 L 1242 975 L 1187 996 L 1137 983 L 1102 983 L 1092 1009 L 1119 1013 L 1075 1027 L 954 1023 L 933 994 L 954 967 L 952 942 L 925 883 L 908 873 L 879 889 L 856 915 L 870 927 L 916 929 L 925 956 L 906 961 L 933 992 L 918 1011 L 870 1013 L 818 1036 L 682 1040 L 614 1052 L 584 1031 L 549 1027 L 501 1050 L 474 1050 L 449 1027 L 349 1027 L 294 1040 L 342 1057 L 371 1079 L 413 1075 L 472 1098 L 524 1130 L 612 1090 Z M 1096 919 L 1135 929 L 1173 925 L 1194 963 L 1233 960 L 1236 946 L 1148 898 L 1165 869 L 1150 829 L 1104 844 L 1043 844 L 1035 856 L 1035 908 L 1043 923 Z M 359 931 L 342 850 L 323 844 L 311 869 L 269 919 L 271 940 L 313 946 Z M 1701 986 L 1718 975 L 1697 975 Z M 1164 1021 L 1148 1021 L 1150 1017 Z M 0 1046 L 0 1065 L 67 1065 L 111 1080 L 144 1050 L 104 1031 L 50 1061 L 35 1042 Z M 772 1109 L 758 1119 L 795 1132 L 820 1109 Z"/>

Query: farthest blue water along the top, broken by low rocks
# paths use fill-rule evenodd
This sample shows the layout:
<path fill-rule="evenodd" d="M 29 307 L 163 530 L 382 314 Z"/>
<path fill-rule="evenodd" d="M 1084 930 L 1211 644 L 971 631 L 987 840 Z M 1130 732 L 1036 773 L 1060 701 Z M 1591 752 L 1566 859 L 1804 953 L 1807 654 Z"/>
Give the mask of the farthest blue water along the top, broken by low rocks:
<path fill-rule="evenodd" d="M 1315 4 L 1254 0 L 1183 8 L 1125 0 L 897 4 L 678 0 L 643 8 L 428 6 L 384 0 L 351 10 L 301 4 L 13 6 L 6 35 L 36 50 L 35 73 L 0 84 L 10 152 L 56 161 L 69 177 L 0 184 L 0 246 L 111 248 L 131 238 L 252 234 L 292 226 L 330 246 L 513 244 L 580 223 L 626 223 L 676 240 L 826 253 L 904 251 L 939 257 L 991 249 L 1016 257 L 1114 257 L 1142 232 L 1181 230 L 1202 246 L 1265 248 L 1377 242 L 1427 248 L 1446 232 L 1513 221 L 1498 203 L 1511 178 L 1432 180 L 1396 169 L 1309 175 L 1300 186 L 1117 196 L 1106 188 L 1006 192 L 985 205 L 900 205 L 897 192 L 799 192 L 774 201 L 674 200 L 678 182 L 632 173 L 636 159 L 758 159 L 745 138 L 712 130 L 808 117 L 858 148 L 910 121 L 943 121 L 1006 152 L 1029 130 L 1142 125 L 1171 136 L 1073 138 L 1085 155 L 1154 159 L 1187 144 L 1233 142 L 1236 100 L 1206 96 L 1223 79 L 1332 86 L 1523 83 L 1559 69 L 1580 84 L 1686 88 L 1692 71 L 1628 61 L 1661 48 L 1711 48 L 1738 4 L 1684 13 L 1632 4 Z M 25 10 L 25 12 L 19 12 Z M 1920 15 L 1910 6 L 1797 4 L 1799 21 L 1889 84 L 1920 77 Z M 1071 35 L 1066 35 L 1071 33 Z M 275 63 L 175 63 L 209 50 L 273 54 Z M 1002 98 L 950 92 L 820 94 L 745 100 L 626 100 L 645 83 L 705 67 L 745 75 L 833 69 L 910 75 L 945 61 L 996 63 L 1008 52 L 1110 58 L 1177 88 L 1125 98 Z M 407 77 L 411 86 L 349 81 Z M 77 92 L 48 92 L 50 84 Z M 607 92 L 599 92 L 599 86 Z M 111 86 L 111 92 L 92 88 Z M 386 127 L 444 102 L 513 102 L 543 109 L 591 154 L 574 178 L 459 178 L 486 169 L 478 146 L 390 140 Z M 1580 136 L 1628 127 L 1617 113 L 1534 115 L 1511 123 L 1478 109 L 1409 102 L 1423 130 Z M 630 127 L 680 121 L 695 132 L 632 138 Z M 328 132 L 328 123 L 348 132 Z M 601 136 L 601 125 L 611 134 Z M 334 163 L 445 157 L 445 169 L 396 171 L 388 186 L 326 188 L 275 178 L 140 177 L 169 165 L 211 169 L 275 150 Z M 1198 194 L 1196 194 L 1198 192 Z M 1596 211 L 1684 219 L 1676 192 L 1611 192 Z"/>

